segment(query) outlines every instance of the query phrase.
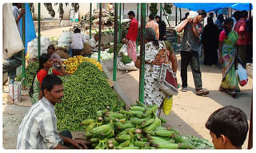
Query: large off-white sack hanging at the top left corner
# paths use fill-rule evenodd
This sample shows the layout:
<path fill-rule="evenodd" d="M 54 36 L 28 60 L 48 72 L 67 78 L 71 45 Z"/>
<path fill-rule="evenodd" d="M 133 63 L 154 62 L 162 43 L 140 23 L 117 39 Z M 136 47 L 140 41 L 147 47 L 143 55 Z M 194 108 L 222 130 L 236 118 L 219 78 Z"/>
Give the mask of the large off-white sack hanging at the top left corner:
<path fill-rule="evenodd" d="M 3 5 L 2 11 L 2 32 L 3 32 L 3 49 L 2 57 L 10 58 L 14 53 L 18 53 L 24 48 L 22 43 L 22 37 L 18 32 L 18 26 L 16 24 L 13 11 L 11 10 L 11 3 Z"/>

